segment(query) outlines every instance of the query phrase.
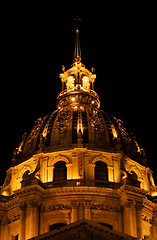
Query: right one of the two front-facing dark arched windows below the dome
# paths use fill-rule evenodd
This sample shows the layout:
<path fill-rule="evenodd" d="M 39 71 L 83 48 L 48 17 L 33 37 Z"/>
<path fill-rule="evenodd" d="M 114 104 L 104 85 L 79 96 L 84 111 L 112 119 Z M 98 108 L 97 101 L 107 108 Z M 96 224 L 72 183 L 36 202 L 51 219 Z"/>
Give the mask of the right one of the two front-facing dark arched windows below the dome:
<path fill-rule="evenodd" d="M 97 161 L 95 163 L 95 179 L 108 181 L 108 170 L 106 163 Z"/>

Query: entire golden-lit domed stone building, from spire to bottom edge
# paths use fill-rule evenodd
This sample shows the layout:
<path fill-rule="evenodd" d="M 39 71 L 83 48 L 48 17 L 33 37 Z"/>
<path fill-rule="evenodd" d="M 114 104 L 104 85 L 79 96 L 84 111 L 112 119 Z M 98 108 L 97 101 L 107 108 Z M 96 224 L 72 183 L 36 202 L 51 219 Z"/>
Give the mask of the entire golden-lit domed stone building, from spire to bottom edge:
<path fill-rule="evenodd" d="M 153 172 L 123 122 L 100 109 L 78 29 L 60 78 L 57 109 L 14 150 L 1 187 L 1 239 L 157 240 Z"/>

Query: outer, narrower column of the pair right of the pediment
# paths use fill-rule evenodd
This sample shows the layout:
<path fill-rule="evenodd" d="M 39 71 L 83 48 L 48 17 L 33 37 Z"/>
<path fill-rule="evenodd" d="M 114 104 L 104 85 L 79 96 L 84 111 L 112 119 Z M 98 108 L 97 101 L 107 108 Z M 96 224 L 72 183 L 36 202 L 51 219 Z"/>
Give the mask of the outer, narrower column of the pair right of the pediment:
<path fill-rule="evenodd" d="M 143 239 L 142 231 L 142 208 L 143 205 L 141 202 L 137 202 L 135 205 L 136 208 L 136 226 L 137 226 L 137 238 Z"/>

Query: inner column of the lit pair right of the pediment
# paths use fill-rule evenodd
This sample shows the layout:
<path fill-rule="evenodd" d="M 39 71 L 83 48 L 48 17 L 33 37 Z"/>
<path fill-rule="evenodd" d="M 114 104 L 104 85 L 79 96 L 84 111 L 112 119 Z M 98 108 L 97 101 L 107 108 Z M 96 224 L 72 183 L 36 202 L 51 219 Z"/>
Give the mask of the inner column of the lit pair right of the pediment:
<path fill-rule="evenodd" d="M 131 236 L 133 236 L 132 206 L 133 206 L 133 201 L 127 200 L 123 209 L 124 233 Z"/>

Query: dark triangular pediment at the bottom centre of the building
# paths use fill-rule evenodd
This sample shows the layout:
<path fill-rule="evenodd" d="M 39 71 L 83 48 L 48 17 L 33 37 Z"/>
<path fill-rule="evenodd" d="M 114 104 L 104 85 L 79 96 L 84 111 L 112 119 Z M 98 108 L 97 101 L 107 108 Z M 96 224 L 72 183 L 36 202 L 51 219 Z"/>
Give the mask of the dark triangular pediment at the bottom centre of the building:
<path fill-rule="evenodd" d="M 133 240 L 127 234 L 112 230 L 96 222 L 81 219 L 58 230 L 53 230 L 31 240 Z"/>

